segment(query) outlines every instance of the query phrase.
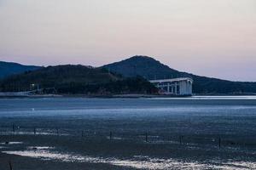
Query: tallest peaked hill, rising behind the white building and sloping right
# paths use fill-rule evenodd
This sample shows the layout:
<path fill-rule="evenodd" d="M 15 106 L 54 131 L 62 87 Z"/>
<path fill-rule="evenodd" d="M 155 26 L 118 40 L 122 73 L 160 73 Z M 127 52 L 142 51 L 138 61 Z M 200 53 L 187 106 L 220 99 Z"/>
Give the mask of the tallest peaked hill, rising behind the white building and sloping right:
<path fill-rule="evenodd" d="M 181 72 L 163 65 L 160 61 L 147 56 L 134 56 L 109 65 L 103 65 L 108 71 L 124 77 L 141 76 L 148 80 L 175 77 L 191 77 L 194 80 L 195 94 L 252 94 L 256 93 L 256 82 L 231 82 L 217 78 L 201 77 Z"/>

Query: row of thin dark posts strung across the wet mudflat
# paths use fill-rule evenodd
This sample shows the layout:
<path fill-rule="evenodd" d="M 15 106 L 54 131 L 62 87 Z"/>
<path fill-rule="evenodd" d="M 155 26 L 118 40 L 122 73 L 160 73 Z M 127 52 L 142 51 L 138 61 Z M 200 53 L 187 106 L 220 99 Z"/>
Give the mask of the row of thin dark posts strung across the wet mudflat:
<path fill-rule="evenodd" d="M 23 131 L 22 131 L 23 130 Z M 220 137 L 216 135 L 212 135 L 212 137 L 200 137 L 196 135 L 184 135 L 184 134 L 171 134 L 170 135 L 154 135 L 155 133 L 119 133 L 104 130 L 102 131 L 93 131 L 93 130 L 84 130 L 84 129 L 67 129 L 60 127 L 25 127 L 25 126 L 16 126 L 13 124 L 10 126 L 0 126 L 0 134 L 2 135 L 19 135 L 19 134 L 33 134 L 33 135 L 68 135 L 68 136 L 80 136 L 82 138 L 90 139 L 90 138 L 103 138 L 103 139 L 123 139 L 123 140 L 139 140 L 146 143 L 154 143 L 154 142 L 166 142 L 173 144 L 213 144 L 218 146 L 220 150 L 222 147 L 226 145 L 232 146 L 256 146 L 256 139 L 251 138 L 251 140 L 243 139 L 230 139 L 230 137 Z M 151 135 L 150 135 L 151 134 Z M 207 135 L 209 136 L 209 135 Z M 250 142 L 251 141 L 251 142 Z M 253 141 L 253 142 L 252 142 Z"/>

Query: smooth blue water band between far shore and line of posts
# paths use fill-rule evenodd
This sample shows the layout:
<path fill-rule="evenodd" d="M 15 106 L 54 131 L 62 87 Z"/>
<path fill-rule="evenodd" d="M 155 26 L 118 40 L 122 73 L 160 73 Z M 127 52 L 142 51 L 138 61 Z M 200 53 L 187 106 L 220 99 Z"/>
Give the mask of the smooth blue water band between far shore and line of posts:
<path fill-rule="evenodd" d="M 256 134 L 256 98 L 0 99 L 0 122 L 3 126 L 98 126 L 115 131 L 250 136 Z"/>

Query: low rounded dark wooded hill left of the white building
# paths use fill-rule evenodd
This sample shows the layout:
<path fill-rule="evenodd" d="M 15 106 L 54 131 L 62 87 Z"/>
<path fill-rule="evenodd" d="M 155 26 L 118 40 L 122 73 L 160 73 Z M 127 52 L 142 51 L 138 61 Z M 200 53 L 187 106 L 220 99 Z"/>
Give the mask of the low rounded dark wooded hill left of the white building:
<path fill-rule="evenodd" d="M 54 88 L 57 94 L 154 94 L 157 89 L 142 77 L 123 78 L 102 68 L 84 65 L 57 65 L 7 77 L 0 82 L 0 91 Z M 44 90 L 43 90 L 44 91 Z"/>

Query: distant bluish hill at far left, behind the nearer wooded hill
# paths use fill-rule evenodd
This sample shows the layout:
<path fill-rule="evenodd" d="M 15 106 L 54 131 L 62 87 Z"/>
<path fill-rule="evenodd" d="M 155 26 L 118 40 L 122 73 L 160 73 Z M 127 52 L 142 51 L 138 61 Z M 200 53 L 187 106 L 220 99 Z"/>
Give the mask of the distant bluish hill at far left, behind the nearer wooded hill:
<path fill-rule="evenodd" d="M 34 65 L 20 65 L 18 63 L 0 61 L 0 79 L 14 74 L 20 74 L 25 71 L 35 71 L 41 68 Z"/>

